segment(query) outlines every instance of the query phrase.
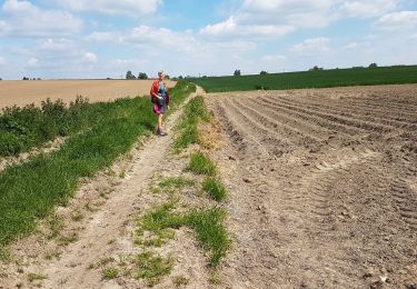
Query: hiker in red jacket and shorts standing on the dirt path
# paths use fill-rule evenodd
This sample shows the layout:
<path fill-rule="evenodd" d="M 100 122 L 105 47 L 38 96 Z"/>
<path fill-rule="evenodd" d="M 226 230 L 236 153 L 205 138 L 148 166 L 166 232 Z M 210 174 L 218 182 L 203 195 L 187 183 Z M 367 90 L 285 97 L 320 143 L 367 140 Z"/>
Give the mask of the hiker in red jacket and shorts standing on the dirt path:
<path fill-rule="evenodd" d="M 167 132 L 162 130 L 162 118 L 163 113 L 169 108 L 169 93 L 168 86 L 163 81 L 165 73 L 163 71 L 158 72 L 158 79 L 153 81 L 150 89 L 150 97 L 153 103 L 153 112 L 158 114 L 158 128 L 157 136 L 165 137 Z"/>

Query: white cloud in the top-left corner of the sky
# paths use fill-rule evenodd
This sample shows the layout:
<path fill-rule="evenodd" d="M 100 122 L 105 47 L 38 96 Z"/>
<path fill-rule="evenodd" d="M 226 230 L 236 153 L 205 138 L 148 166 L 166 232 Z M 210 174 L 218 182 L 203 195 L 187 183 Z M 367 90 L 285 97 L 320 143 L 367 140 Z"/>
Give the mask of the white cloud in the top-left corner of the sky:
<path fill-rule="evenodd" d="M 7 0 L 2 6 L 0 34 L 12 37 L 69 36 L 82 21 L 60 10 L 41 10 L 29 1 Z"/>

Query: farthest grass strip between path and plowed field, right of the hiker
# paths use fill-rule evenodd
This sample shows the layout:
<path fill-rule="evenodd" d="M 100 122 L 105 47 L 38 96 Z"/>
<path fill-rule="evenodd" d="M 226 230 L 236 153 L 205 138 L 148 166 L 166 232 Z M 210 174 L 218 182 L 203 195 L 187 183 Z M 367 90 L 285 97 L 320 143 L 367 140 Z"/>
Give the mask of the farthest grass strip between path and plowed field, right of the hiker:
<path fill-rule="evenodd" d="M 207 110 L 205 99 L 198 96 L 191 99 L 183 109 L 181 121 L 178 124 L 179 136 L 173 142 L 177 153 L 188 148 L 191 143 L 198 143 L 198 123 L 210 121 L 211 116 Z"/>

